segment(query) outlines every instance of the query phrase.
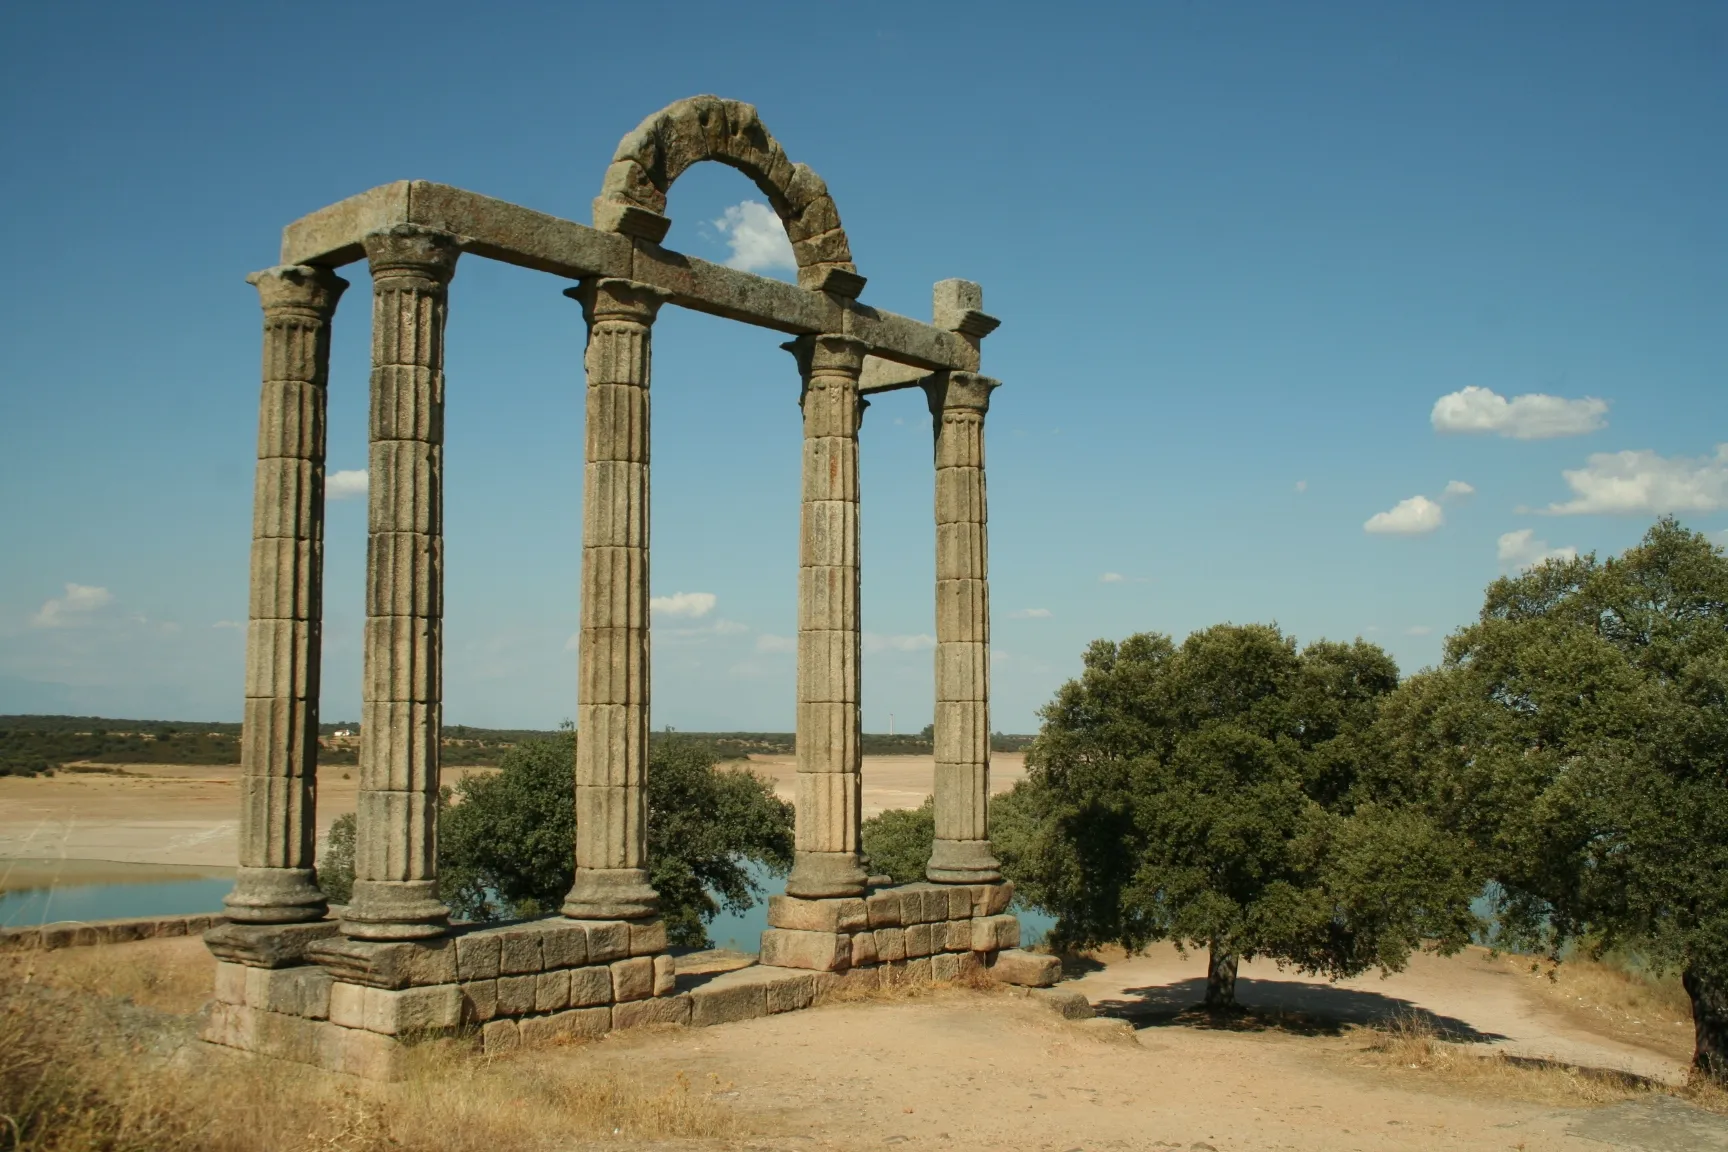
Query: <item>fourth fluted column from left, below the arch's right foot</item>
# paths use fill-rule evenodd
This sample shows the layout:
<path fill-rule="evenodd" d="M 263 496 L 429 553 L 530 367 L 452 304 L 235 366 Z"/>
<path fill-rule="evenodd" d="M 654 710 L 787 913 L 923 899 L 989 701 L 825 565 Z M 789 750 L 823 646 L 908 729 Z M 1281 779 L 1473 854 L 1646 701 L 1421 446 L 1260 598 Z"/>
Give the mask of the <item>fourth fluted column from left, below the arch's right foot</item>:
<path fill-rule="evenodd" d="M 859 853 L 859 373 L 866 345 L 802 337 L 804 499 L 798 535 L 797 853 L 786 893 L 855 896 Z"/>

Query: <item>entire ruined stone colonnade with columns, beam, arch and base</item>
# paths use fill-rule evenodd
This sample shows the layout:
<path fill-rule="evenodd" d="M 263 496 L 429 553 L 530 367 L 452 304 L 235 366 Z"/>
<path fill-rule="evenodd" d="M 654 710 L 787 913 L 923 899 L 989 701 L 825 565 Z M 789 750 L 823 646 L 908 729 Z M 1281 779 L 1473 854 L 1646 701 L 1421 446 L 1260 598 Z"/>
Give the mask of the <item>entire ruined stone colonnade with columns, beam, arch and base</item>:
<path fill-rule="evenodd" d="M 786 226 L 790 285 L 660 247 L 670 183 L 719 161 Z M 240 869 L 216 953 L 206 1038 L 389 1076 L 408 1038 L 486 1048 L 667 1021 L 805 1007 L 824 983 L 954 978 L 1014 953 L 988 839 L 990 661 L 978 373 L 997 321 L 982 290 L 935 287 L 931 323 L 859 301 L 838 209 L 755 109 L 695 97 L 617 149 L 594 226 L 460 188 L 401 181 L 283 230 L 282 264 L 249 280 L 264 311 L 245 663 Z M 437 893 L 442 724 L 446 290 L 461 256 L 574 280 L 588 325 L 575 881 L 562 915 L 453 924 Z M 366 622 L 354 891 L 332 915 L 314 870 L 318 674 L 330 323 L 372 273 Z M 802 377 L 797 855 L 769 908 L 762 964 L 679 981 L 648 883 L 648 411 L 653 323 L 676 304 L 793 337 Z M 928 883 L 873 886 L 861 827 L 861 416 L 873 392 L 921 387 L 935 427 L 935 824 Z M 1004 952 L 1013 959 L 1002 960 Z"/>

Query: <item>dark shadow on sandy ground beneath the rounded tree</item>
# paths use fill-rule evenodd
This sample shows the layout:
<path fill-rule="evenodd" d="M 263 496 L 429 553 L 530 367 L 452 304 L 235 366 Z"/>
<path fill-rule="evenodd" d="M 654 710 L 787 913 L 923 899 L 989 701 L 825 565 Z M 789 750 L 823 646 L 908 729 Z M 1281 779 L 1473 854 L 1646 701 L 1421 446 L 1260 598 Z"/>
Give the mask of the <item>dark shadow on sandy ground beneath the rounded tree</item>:
<path fill-rule="evenodd" d="M 1484 1033 L 1455 1016 L 1441 1016 L 1401 997 L 1379 991 L 1339 988 L 1318 981 L 1239 979 L 1237 1009 L 1213 1012 L 1203 1007 L 1206 979 L 1182 979 L 1173 984 L 1127 988 L 1118 998 L 1096 1000 L 1104 1016 L 1125 1019 L 1135 1028 L 1204 1028 L 1222 1031 L 1284 1031 L 1299 1036 L 1337 1036 L 1350 1024 L 1374 1026 L 1394 1017 L 1415 1017 L 1434 1029 L 1439 1040 L 1490 1043 L 1505 1040 Z"/>

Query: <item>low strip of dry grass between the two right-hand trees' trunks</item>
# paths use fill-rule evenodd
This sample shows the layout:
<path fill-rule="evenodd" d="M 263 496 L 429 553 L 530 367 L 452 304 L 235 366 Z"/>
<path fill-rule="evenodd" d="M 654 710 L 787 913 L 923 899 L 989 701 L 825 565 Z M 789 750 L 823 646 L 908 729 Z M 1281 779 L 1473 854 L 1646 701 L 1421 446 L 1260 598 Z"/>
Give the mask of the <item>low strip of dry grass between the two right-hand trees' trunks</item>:
<path fill-rule="evenodd" d="M 1422 1012 L 1403 1012 L 1375 1028 L 1355 1031 L 1358 1036 L 1365 1035 L 1369 1043 L 1353 1062 L 1401 1074 L 1417 1073 L 1429 1081 L 1469 1092 L 1571 1107 L 1668 1092 L 1666 1085 L 1633 1073 L 1472 1050 L 1472 1045 L 1448 1041 Z"/>

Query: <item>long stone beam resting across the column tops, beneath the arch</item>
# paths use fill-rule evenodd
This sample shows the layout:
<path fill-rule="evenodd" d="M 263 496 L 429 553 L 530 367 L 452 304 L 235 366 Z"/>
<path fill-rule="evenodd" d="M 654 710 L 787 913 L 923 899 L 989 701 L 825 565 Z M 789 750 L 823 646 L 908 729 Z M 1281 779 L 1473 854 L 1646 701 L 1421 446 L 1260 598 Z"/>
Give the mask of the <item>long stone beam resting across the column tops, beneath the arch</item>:
<path fill-rule="evenodd" d="M 425 180 L 380 185 L 294 221 L 282 231 L 282 261 L 347 264 L 365 256 L 368 233 L 394 225 L 446 231 L 460 238 L 465 252 L 555 276 L 634 280 L 665 290 L 667 301 L 679 307 L 790 335 L 848 335 L 867 344 L 871 356 L 926 371 L 978 368 L 976 340 L 962 330 Z"/>

